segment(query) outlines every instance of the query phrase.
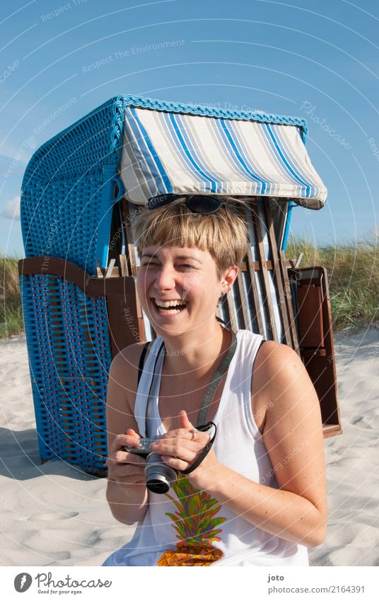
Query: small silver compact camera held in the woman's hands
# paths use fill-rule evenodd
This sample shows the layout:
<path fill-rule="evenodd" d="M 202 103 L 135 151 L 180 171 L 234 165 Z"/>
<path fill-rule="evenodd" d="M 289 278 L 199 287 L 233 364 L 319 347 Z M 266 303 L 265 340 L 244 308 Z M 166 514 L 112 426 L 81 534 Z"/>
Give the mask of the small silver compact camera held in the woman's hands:
<path fill-rule="evenodd" d="M 163 495 L 168 493 L 171 484 L 177 481 L 177 473 L 175 469 L 163 463 L 158 453 L 150 450 L 151 443 L 159 438 L 161 437 L 140 438 L 138 447 L 124 447 L 124 451 L 135 453 L 146 459 L 146 486 L 152 493 Z"/>

